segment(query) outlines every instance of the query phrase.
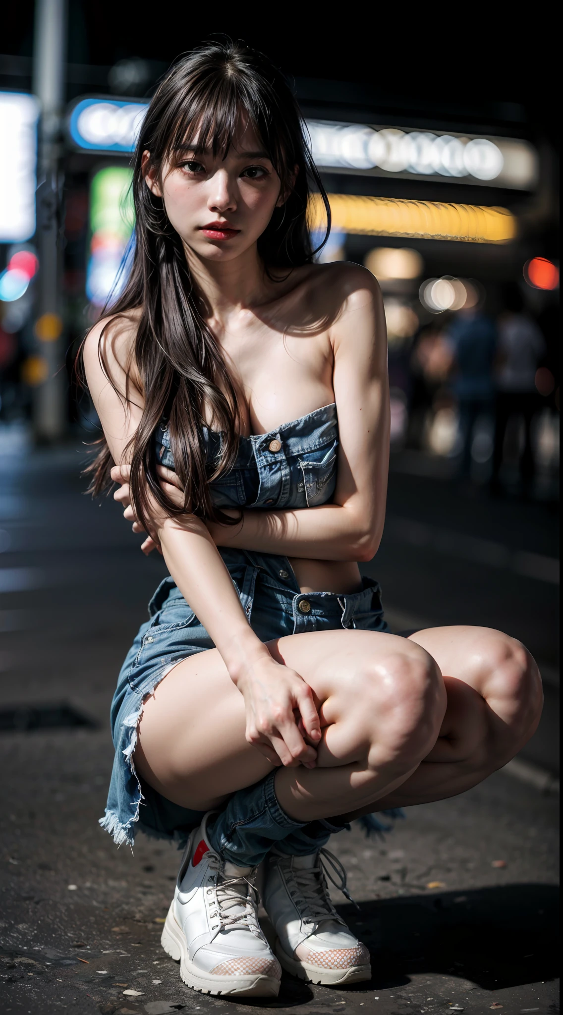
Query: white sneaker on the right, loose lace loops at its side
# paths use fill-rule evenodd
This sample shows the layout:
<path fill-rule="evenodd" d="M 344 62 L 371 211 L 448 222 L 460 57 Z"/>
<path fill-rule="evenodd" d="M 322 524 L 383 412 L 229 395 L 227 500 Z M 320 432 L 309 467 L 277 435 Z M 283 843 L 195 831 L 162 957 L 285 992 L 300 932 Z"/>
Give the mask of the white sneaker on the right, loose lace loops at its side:
<path fill-rule="evenodd" d="M 340 884 L 322 858 L 340 875 Z M 308 983 L 370 979 L 369 952 L 338 916 L 326 874 L 350 898 L 346 872 L 328 850 L 307 857 L 270 853 L 263 901 L 278 935 L 276 954 L 284 969 Z"/>

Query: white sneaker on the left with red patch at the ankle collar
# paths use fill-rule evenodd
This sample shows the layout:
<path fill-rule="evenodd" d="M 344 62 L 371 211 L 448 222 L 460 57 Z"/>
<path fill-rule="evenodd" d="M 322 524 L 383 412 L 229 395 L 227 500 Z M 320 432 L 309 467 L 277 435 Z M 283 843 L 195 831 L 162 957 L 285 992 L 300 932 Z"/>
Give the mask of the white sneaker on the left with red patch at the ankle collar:
<path fill-rule="evenodd" d="M 275 998 L 281 968 L 258 923 L 257 868 L 225 863 L 211 849 L 209 816 L 186 847 L 162 948 L 196 991 Z"/>

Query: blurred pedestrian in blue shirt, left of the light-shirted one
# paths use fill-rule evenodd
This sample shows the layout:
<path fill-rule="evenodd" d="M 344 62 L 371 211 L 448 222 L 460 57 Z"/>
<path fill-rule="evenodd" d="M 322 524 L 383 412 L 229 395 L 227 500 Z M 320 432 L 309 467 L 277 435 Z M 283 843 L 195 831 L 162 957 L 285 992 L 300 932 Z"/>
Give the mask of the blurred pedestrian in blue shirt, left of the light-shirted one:
<path fill-rule="evenodd" d="M 445 334 L 453 356 L 451 386 L 460 407 L 461 473 L 468 477 L 475 424 L 479 416 L 493 412 L 497 332 L 494 321 L 475 307 L 459 311 Z"/>

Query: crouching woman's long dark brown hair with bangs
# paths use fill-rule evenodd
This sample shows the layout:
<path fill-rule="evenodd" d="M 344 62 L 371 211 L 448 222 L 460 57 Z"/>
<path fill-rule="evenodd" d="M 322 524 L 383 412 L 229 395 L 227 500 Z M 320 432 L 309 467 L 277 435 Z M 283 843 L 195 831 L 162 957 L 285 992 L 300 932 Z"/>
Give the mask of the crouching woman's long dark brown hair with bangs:
<path fill-rule="evenodd" d="M 168 515 L 181 509 L 162 492 L 156 473 L 154 432 L 168 427 L 174 468 L 185 489 L 183 511 L 230 521 L 214 507 L 209 481 L 232 466 L 238 449 L 236 394 L 218 343 L 202 317 L 202 302 L 178 232 L 161 198 L 144 182 L 143 151 L 161 180 L 162 166 L 179 161 L 198 134 L 198 148 L 223 157 L 239 117 L 249 117 L 281 181 L 285 203 L 275 208 L 258 241 L 266 270 L 290 269 L 311 261 L 306 211 L 310 184 L 321 194 L 330 228 L 330 208 L 306 140 L 306 129 L 282 73 L 261 53 L 241 43 L 211 43 L 180 59 L 148 107 L 133 157 L 136 221 L 133 264 L 119 297 L 101 316 L 140 310 L 134 358 L 142 383 L 144 410 L 129 447 L 131 492 L 136 512 L 148 521 L 147 484 Z M 298 167 L 294 176 L 294 166 Z M 326 239 L 326 238 L 325 238 Z M 110 379 L 100 335 L 98 356 Z M 131 401 L 130 385 L 121 393 Z M 221 431 L 220 453 L 210 465 L 202 426 L 204 404 Z M 113 460 L 104 438 L 87 471 L 95 494 L 111 483 Z"/>

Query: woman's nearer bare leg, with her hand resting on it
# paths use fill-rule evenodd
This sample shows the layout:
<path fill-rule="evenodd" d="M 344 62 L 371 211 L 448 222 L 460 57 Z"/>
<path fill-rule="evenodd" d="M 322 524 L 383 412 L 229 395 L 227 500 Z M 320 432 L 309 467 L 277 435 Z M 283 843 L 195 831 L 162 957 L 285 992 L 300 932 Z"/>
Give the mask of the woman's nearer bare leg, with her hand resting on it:
<path fill-rule="evenodd" d="M 271 642 L 320 708 L 318 767 L 282 768 L 276 797 L 296 822 L 361 808 L 407 779 L 436 741 L 445 709 L 439 670 L 414 641 L 323 631 Z M 135 764 L 168 800 L 221 805 L 272 766 L 244 738 L 242 695 L 216 650 L 180 663 L 145 702 Z"/>

